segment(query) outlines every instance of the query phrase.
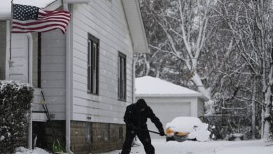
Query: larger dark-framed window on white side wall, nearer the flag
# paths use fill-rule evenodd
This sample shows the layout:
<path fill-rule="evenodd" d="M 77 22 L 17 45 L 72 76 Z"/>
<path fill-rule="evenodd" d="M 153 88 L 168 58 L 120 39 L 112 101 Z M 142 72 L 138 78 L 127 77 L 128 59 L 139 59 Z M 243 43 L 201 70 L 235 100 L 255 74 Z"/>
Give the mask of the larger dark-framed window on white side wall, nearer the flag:
<path fill-rule="evenodd" d="M 99 39 L 88 34 L 87 91 L 99 94 Z"/>

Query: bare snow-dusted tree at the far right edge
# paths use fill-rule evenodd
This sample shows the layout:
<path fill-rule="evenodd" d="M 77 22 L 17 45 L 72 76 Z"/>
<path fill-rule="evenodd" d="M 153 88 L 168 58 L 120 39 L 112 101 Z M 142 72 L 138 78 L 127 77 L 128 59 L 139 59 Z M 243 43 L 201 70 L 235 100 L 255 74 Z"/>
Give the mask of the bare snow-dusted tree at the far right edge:
<path fill-rule="evenodd" d="M 229 11 L 223 1 L 225 17 L 235 36 L 241 58 L 249 73 L 258 78 L 262 87 L 262 138 L 269 137 L 270 113 L 272 111 L 273 51 L 272 1 L 235 1 L 236 11 Z"/>

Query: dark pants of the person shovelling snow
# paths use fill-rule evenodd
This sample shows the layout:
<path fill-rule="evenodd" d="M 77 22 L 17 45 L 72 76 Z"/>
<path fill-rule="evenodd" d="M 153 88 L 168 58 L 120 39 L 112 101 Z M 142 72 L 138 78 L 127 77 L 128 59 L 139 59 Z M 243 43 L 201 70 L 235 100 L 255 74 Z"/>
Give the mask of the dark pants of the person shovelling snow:
<path fill-rule="evenodd" d="M 129 154 L 131 151 L 132 141 L 134 137 L 139 137 L 139 140 L 144 145 L 146 154 L 155 154 L 155 148 L 153 148 L 151 143 L 151 137 L 148 131 L 144 130 L 126 130 L 126 139 L 123 144 L 123 151 L 121 154 Z"/>

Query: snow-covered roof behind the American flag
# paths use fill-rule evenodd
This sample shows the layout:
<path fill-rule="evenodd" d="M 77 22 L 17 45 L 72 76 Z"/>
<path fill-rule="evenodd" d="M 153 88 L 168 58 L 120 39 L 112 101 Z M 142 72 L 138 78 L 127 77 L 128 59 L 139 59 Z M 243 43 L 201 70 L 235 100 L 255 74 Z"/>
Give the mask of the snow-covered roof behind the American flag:
<path fill-rule="evenodd" d="M 38 8 L 46 8 L 51 3 L 58 0 L 13 0 L 13 3 L 37 6 Z M 1 0 L 0 5 L 0 20 L 6 20 L 11 18 L 11 0 Z"/>

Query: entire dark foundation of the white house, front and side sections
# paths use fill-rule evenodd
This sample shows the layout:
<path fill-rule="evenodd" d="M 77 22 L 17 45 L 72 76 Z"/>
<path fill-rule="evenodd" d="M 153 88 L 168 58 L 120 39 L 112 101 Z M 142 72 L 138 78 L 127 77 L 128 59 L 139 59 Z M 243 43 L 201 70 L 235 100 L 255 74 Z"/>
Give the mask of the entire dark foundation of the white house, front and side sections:
<path fill-rule="evenodd" d="M 52 126 L 65 147 L 65 121 L 54 120 Z M 34 132 L 38 134 L 36 145 L 51 151 L 54 137 L 49 123 L 34 122 Z M 71 121 L 71 151 L 75 154 L 115 151 L 122 148 L 124 140 L 125 125 Z"/>

